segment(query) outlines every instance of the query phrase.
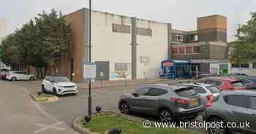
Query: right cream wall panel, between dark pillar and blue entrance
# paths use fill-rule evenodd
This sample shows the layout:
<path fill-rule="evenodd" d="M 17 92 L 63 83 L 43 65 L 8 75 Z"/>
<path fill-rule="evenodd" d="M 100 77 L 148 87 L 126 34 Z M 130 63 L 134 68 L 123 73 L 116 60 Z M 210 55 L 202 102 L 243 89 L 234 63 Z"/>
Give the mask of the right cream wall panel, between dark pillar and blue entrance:
<path fill-rule="evenodd" d="M 167 24 L 138 20 L 137 25 L 152 29 L 152 36 L 138 36 L 137 77 L 138 79 L 144 79 L 146 73 L 147 78 L 157 78 L 160 71 L 160 62 L 168 57 Z M 146 66 L 140 62 L 140 57 L 148 57 L 149 62 Z"/>

